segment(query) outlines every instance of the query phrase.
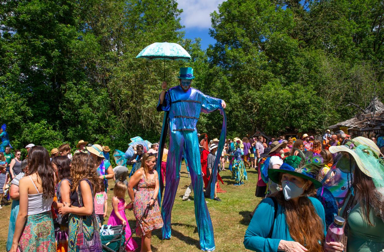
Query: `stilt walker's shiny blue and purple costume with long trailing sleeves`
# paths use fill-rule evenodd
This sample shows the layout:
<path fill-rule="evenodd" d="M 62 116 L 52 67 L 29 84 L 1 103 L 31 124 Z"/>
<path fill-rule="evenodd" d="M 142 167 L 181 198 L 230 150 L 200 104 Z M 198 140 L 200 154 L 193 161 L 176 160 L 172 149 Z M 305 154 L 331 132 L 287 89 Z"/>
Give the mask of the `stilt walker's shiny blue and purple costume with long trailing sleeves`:
<path fill-rule="evenodd" d="M 203 178 L 201 174 L 199 139 L 197 136 L 196 123 L 199 119 L 200 112 L 210 113 L 215 110 L 220 110 L 222 113 L 223 130 L 220 139 L 225 139 L 226 134 L 226 119 L 225 113 L 221 106 L 222 100 L 204 95 L 195 88 L 189 88 L 188 91 L 180 86 L 170 88 L 166 92 L 164 101 L 157 106 L 157 111 L 166 111 L 163 121 L 163 132 L 160 140 L 160 146 L 164 141 L 167 132 L 164 125 L 169 125 L 169 151 L 166 166 L 166 188 L 164 200 L 162 202 L 161 216 L 164 221 L 162 227 L 163 239 L 169 239 L 171 236 L 171 211 L 174 204 L 176 190 L 180 180 L 180 162 L 183 151 L 185 159 L 189 164 L 190 176 L 192 179 L 192 187 L 194 189 L 194 204 L 197 230 L 199 231 L 200 247 L 202 250 L 212 251 L 215 249 L 214 230 L 212 221 L 209 215 L 207 204 L 205 203 L 203 192 Z M 219 144 L 220 147 L 220 144 Z M 221 149 L 223 148 L 223 141 Z M 221 151 L 220 151 L 221 152 Z M 161 158 L 162 151 L 159 150 Z M 215 160 L 216 167 L 219 159 Z M 159 162 L 161 163 L 161 162 Z M 159 166 L 157 167 L 159 172 Z M 161 172 L 159 172 L 161 174 Z M 217 174 L 217 169 L 212 172 Z M 210 180 L 211 188 L 215 187 L 217 175 L 212 175 Z M 162 179 L 159 178 L 162 187 Z M 207 186 L 208 187 L 208 186 Z M 210 190 L 210 195 L 213 195 L 214 190 Z M 209 195 L 209 196 L 210 196 Z M 159 202 L 161 202 L 161 193 L 159 193 Z"/>

